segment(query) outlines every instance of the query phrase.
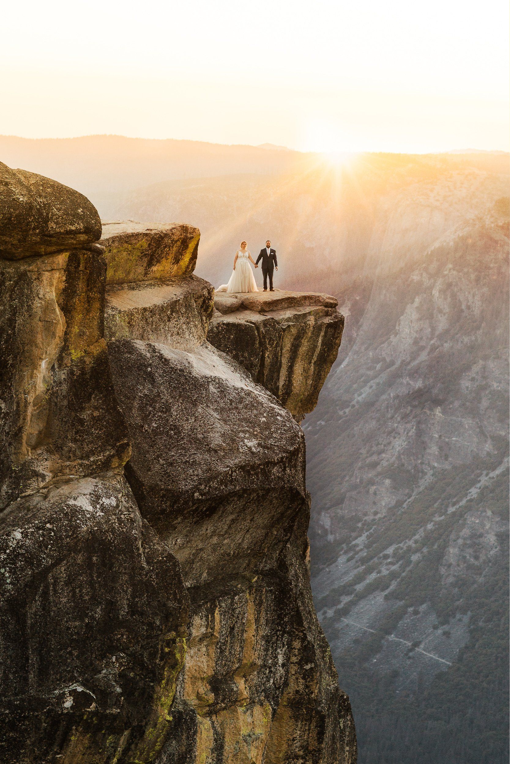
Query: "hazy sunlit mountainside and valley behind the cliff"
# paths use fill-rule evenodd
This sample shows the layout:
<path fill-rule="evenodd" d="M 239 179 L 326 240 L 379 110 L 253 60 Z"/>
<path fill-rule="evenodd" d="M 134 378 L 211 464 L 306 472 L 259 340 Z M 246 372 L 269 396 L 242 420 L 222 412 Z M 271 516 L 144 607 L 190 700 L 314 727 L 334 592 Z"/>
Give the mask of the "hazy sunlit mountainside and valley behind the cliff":
<path fill-rule="evenodd" d="M 193 222 L 213 283 L 242 238 L 269 237 L 277 287 L 339 298 L 340 356 L 304 430 L 312 586 L 359 761 L 504 762 L 508 155 L 335 167 L 229 148 L 221 174 L 129 175 L 126 157 L 123 183 L 73 185 L 105 220 Z"/>

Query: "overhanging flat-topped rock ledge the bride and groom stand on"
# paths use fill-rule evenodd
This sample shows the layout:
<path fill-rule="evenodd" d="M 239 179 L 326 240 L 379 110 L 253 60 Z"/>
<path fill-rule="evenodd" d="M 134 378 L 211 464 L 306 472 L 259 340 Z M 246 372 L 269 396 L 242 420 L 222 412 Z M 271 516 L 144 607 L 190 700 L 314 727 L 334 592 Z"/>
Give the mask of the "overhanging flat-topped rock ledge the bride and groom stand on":
<path fill-rule="evenodd" d="M 334 297 L 299 292 L 215 296 L 207 339 L 267 387 L 298 422 L 336 360 L 343 316 Z"/>

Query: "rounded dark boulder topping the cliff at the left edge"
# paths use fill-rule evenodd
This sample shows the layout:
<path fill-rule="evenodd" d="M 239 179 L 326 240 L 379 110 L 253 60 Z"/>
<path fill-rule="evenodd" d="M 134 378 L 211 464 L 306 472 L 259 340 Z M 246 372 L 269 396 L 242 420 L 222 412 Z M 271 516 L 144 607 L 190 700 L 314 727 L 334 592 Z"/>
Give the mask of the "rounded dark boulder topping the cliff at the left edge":
<path fill-rule="evenodd" d="M 0 257 L 50 254 L 99 238 L 98 212 L 83 194 L 0 162 Z"/>

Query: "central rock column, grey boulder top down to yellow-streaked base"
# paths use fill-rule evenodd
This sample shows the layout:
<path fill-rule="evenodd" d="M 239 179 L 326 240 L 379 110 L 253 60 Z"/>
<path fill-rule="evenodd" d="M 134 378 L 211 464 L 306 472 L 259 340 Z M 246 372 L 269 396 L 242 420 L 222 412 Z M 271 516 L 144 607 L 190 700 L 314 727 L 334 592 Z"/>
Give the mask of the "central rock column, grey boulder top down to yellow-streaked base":
<path fill-rule="evenodd" d="M 313 610 L 304 438 L 226 354 L 109 343 L 142 515 L 177 556 L 190 636 L 162 761 L 352 764 Z"/>

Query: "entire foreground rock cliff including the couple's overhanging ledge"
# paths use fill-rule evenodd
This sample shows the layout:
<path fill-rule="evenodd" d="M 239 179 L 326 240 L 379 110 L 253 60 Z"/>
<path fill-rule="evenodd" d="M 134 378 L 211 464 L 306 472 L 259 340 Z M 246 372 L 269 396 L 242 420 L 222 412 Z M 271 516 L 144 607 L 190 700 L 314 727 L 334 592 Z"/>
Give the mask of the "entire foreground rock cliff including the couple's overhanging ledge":
<path fill-rule="evenodd" d="M 336 355 L 335 301 L 253 311 L 266 379 L 206 340 L 225 314 L 196 228 L 98 246 L 85 197 L 0 177 L 2 761 L 353 764 L 292 416 L 313 399 L 291 370 L 317 397 Z"/>

